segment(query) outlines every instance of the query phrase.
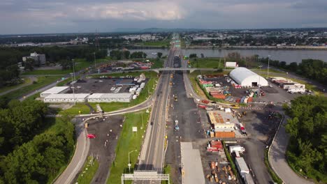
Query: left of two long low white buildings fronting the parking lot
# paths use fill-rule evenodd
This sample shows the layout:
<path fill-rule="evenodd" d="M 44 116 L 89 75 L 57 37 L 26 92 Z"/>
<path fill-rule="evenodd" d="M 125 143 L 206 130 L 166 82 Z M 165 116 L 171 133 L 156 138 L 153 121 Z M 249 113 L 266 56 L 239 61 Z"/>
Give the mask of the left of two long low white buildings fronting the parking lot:
<path fill-rule="evenodd" d="M 51 94 L 43 99 L 43 102 L 48 103 L 73 103 L 86 102 L 89 93 L 65 93 L 65 94 Z"/>

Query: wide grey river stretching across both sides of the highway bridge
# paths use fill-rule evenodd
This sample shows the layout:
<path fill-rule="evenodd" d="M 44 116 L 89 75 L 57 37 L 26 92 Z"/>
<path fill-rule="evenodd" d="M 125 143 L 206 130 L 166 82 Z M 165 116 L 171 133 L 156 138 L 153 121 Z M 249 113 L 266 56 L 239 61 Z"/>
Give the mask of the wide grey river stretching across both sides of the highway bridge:
<path fill-rule="evenodd" d="M 130 49 L 132 52 L 145 52 L 147 57 L 157 57 L 152 53 L 162 52 L 163 56 L 168 54 L 169 49 Z M 252 56 L 258 54 L 259 57 L 268 57 L 270 59 L 285 61 L 286 63 L 296 62 L 300 63 L 302 59 L 321 59 L 327 62 L 326 50 L 264 50 L 264 49 L 183 49 L 183 54 L 189 56 L 189 54 L 197 54 L 198 57 L 201 53 L 205 57 L 224 57 L 230 52 L 238 52 L 241 56 Z"/>

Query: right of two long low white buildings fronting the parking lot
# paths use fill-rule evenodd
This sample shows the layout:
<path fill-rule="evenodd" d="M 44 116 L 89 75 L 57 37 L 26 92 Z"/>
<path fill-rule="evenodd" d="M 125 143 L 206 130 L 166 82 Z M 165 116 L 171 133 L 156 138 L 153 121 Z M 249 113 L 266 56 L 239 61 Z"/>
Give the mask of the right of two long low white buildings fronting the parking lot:
<path fill-rule="evenodd" d="M 131 102 L 131 93 L 93 93 L 87 102 Z"/>

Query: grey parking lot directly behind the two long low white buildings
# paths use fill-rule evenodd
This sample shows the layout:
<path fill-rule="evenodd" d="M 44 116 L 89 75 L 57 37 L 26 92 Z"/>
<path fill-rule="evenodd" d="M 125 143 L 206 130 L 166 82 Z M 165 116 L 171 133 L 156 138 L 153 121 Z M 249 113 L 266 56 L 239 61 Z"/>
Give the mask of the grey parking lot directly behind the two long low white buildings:
<path fill-rule="evenodd" d="M 147 82 L 147 79 L 143 82 Z M 117 77 L 78 79 L 73 85 L 75 93 L 129 93 L 129 88 L 138 84 L 133 78 Z"/>

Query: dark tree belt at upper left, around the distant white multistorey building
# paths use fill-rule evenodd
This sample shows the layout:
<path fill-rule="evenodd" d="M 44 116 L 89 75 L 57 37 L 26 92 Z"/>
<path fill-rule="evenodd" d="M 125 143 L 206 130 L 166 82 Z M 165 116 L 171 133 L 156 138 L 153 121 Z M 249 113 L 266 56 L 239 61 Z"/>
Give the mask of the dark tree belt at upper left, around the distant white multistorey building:
<path fill-rule="evenodd" d="M 94 61 L 96 59 L 106 58 L 107 49 L 95 49 L 89 46 L 71 46 L 71 47 L 0 47 L 0 87 L 10 86 L 20 82 L 20 68 L 17 63 L 22 62 L 23 56 L 29 56 L 30 53 L 37 52 L 45 54 L 47 64 L 60 63 L 62 69 L 72 67 L 71 59 L 87 59 Z M 33 61 L 28 60 L 25 65 L 26 70 L 33 70 Z"/>

